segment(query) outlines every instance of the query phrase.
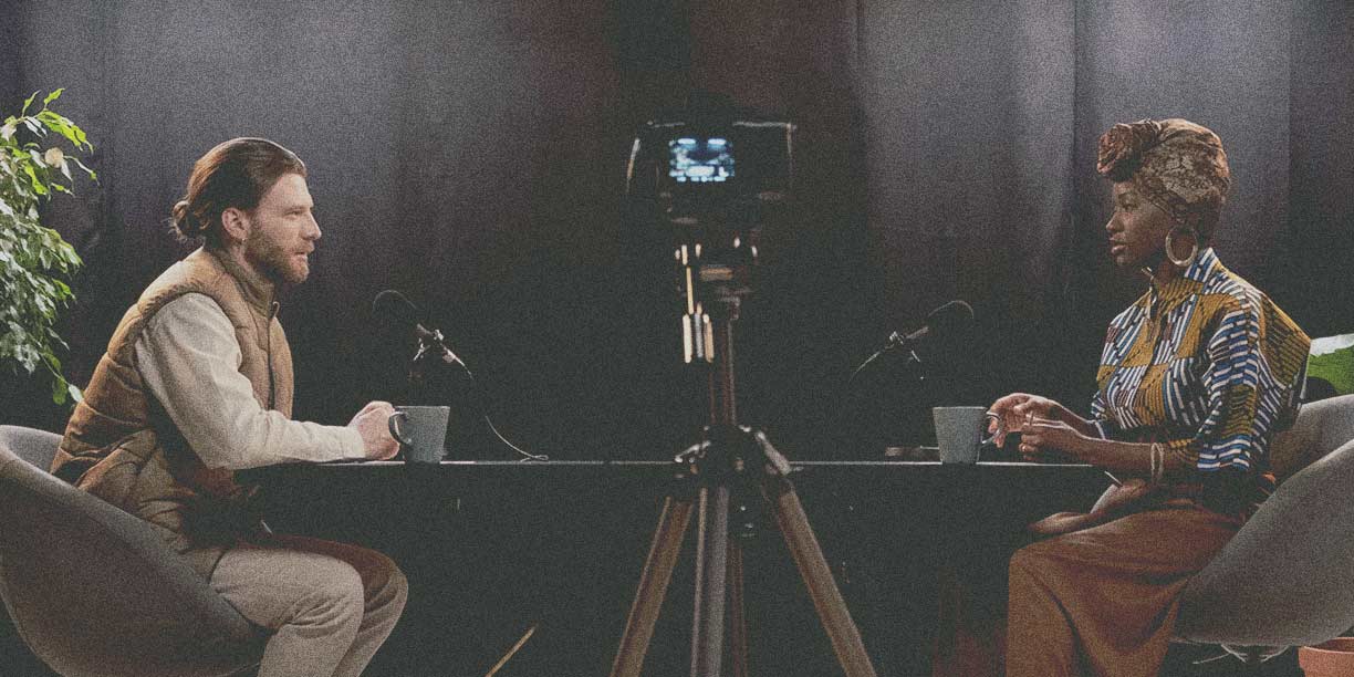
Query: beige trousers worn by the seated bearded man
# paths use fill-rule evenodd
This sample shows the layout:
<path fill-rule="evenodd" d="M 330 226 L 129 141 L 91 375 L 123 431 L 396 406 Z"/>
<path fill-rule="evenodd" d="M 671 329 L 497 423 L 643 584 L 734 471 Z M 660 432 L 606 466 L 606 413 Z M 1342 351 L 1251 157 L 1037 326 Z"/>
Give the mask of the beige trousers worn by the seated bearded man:
<path fill-rule="evenodd" d="M 302 536 L 240 542 L 222 555 L 211 586 L 274 631 L 259 677 L 357 677 L 409 593 L 386 555 Z"/>

